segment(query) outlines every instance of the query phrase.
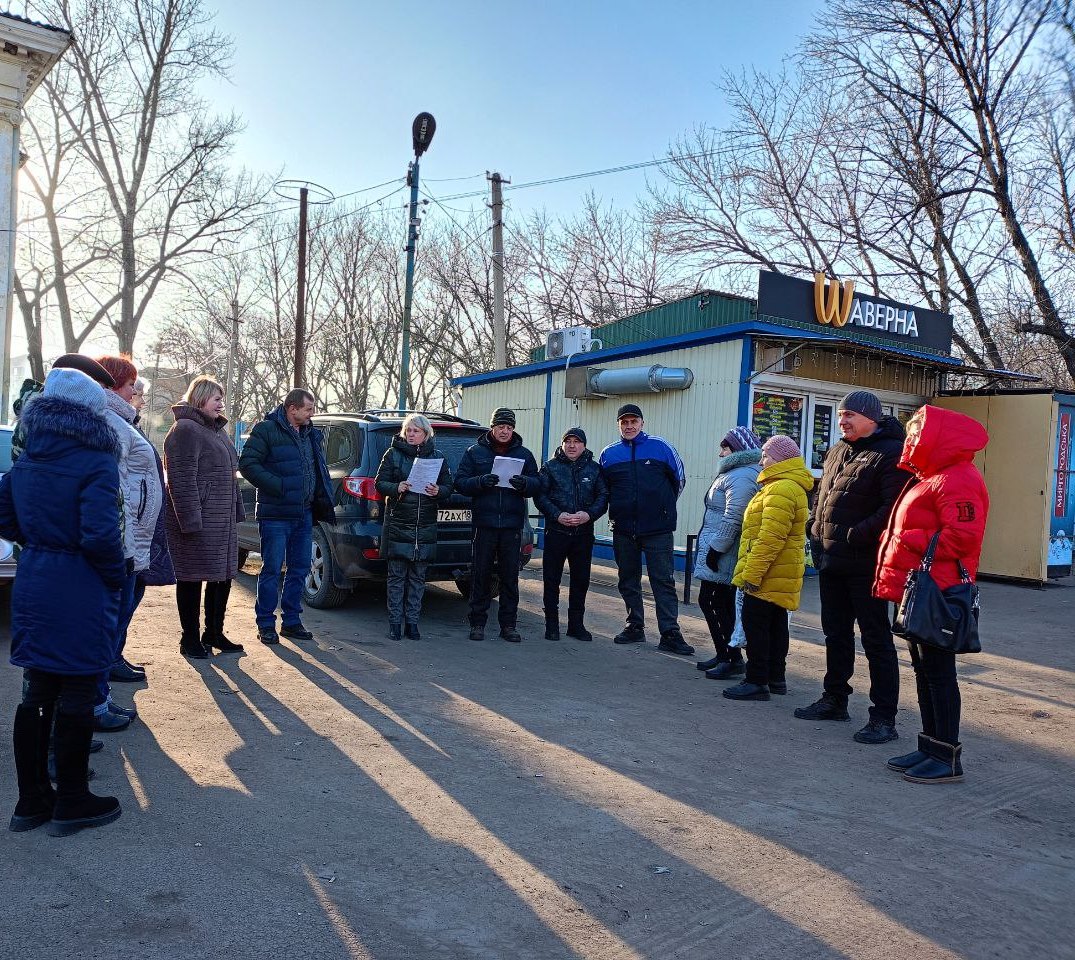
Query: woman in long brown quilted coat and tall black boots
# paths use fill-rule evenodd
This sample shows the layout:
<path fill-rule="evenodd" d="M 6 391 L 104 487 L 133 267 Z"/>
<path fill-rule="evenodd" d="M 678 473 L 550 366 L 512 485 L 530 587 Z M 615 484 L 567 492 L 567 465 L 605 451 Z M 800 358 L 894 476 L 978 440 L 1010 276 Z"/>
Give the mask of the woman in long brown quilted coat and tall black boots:
<path fill-rule="evenodd" d="M 180 653 L 204 660 L 213 647 L 243 648 L 224 635 L 224 617 L 239 573 L 235 525 L 246 513 L 235 483 L 239 457 L 224 429 L 224 387 L 212 377 L 195 377 L 172 414 L 175 424 L 164 438 L 166 529 L 183 628 Z M 202 584 L 205 629 L 199 633 Z"/>

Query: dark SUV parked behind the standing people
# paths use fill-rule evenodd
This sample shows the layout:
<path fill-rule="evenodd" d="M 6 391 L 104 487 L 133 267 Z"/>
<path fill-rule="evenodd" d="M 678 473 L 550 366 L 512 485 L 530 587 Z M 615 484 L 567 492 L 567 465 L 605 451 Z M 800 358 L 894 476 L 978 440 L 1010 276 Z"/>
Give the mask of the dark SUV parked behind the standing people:
<path fill-rule="evenodd" d="M 486 432 L 476 420 L 445 413 L 417 411 L 429 417 L 436 431 L 436 448 L 448 461 L 453 476 L 463 453 Z M 400 432 L 410 411 L 362 410 L 358 413 L 319 414 L 314 425 L 325 434 L 325 461 L 332 479 L 335 503 L 334 524 L 314 525 L 313 567 L 306 577 L 303 599 L 309 606 L 339 606 L 360 581 L 384 581 L 387 564 L 381 559 L 381 535 L 385 518 L 384 498 L 374 477 L 381 458 Z M 255 489 L 241 476 L 239 486 L 246 507 L 246 521 L 239 525 L 240 565 L 247 554 L 261 548 L 254 519 Z M 442 504 L 436 538 L 436 558 L 429 564 L 427 579 L 454 581 L 459 591 L 470 594 L 471 502 L 453 493 Z M 530 561 L 533 530 L 524 530 L 519 565 Z"/>

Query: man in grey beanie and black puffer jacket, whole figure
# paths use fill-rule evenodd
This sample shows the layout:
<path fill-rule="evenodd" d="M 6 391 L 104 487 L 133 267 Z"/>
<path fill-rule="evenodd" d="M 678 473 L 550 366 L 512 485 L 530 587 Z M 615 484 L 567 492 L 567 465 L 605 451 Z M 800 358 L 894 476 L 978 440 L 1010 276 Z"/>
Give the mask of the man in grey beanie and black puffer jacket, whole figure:
<path fill-rule="evenodd" d="M 806 526 L 818 564 L 825 631 L 825 693 L 800 707 L 802 720 L 847 720 L 855 672 L 855 624 L 870 664 L 870 722 L 859 743 L 895 740 L 900 672 L 888 603 L 873 597 L 877 547 L 892 504 L 911 478 L 899 467 L 903 427 L 885 416 L 869 390 L 852 390 L 837 407 L 838 443 L 825 458 L 821 483 Z"/>

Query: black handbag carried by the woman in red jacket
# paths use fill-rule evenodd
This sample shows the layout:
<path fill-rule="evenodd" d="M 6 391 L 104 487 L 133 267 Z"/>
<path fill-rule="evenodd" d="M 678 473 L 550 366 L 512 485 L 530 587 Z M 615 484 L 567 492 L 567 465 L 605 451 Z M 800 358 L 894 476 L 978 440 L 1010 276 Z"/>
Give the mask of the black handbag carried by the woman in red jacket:
<path fill-rule="evenodd" d="M 923 643 L 949 654 L 979 654 L 978 586 L 958 560 L 960 582 L 947 590 L 936 585 L 930 569 L 940 538 L 938 530 L 918 569 L 907 574 L 903 600 L 892 619 L 892 632 L 912 643 Z"/>

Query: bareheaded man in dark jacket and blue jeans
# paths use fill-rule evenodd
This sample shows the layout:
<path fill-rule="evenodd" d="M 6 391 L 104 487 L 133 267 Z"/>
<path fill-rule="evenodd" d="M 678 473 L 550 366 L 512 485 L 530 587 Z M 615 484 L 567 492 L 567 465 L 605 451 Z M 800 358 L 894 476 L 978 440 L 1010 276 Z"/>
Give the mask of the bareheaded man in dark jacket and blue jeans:
<path fill-rule="evenodd" d="M 277 603 L 280 632 L 292 640 L 313 640 L 301 620 L 302 583 L 310 573 L 314 521 L 335 518 L 321 431 L 310 422 L 313 415 L 314 395 L 291 390 L 250 431 L 239 458 L 239 472 L 258 491 L 255 517 L 261 536 L 261 573 L 254 615 L 264 644 L 280 643 Z M 281 597 L 280 573 L 285 563 Z"/>

